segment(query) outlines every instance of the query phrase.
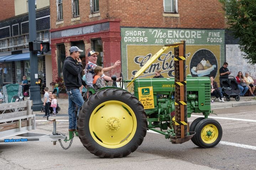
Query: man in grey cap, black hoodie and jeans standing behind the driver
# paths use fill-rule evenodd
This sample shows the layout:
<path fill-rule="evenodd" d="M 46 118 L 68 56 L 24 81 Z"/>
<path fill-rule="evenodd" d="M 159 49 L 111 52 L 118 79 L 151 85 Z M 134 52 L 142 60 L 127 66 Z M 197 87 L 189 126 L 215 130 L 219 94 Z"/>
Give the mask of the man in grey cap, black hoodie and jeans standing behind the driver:
<path fill-rule="evenodd" d="M 72 46 L 69 51 L 70 56 L 65 59 L 63 64 L 63 79 L 68 94 L 68 130 L 71 132 L 77 129 L 77 118 L 75 117 L 76 105 L 78 106 L 78 115 L 80 107 L 84 103 L 79 87 L 81 87 L 82 84 L 86 86 L 86 83 L 80 75 L 83 66 L 79 56 L 80 52 L 83 52 L 83 50 L 80 50 L 77 46 Z"/>

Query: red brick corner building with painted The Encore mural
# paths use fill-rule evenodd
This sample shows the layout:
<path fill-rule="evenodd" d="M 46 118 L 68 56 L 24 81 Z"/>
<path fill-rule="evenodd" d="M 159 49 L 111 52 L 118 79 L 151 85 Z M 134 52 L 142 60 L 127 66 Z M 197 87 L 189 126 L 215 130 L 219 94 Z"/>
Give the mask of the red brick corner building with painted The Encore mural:
<path fill-rule="evenodd" d="M 121 60 L 121 69 L 107 74 L 122 70 L 128 79 L 164 44 L 185 39 L 187 74 L 214 75 L 218 80 L 219 68 L 230 60 L 225 58 L 226 51 L 236 48 L 235 43 L 226 47 L 225 41 L 232 38 L 226 39 L 218 0 L 50 0 L 50 9 L 53 78 L 62 75 L 72 45 L 85 51 L 83 64 L 92 49 L 100 52 L 97 63 L 103 67 Z M 153 77 L 156 69 L 164 77 L 173 77 L 172 57 L 173 50 L 166 52 L 141 77 Z M 241 60 L 241 55 L 234 58 Z M 229 64 L 229 68 L 235 66 Z"/>

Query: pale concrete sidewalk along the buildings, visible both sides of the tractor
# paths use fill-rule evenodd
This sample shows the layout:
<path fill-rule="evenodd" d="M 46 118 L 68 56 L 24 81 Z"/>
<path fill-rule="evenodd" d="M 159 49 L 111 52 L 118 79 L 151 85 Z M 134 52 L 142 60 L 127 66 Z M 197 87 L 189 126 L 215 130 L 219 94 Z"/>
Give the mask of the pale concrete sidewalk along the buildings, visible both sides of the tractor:
<path fill-rule="evenodd" d="M 68 117 L 68 99 L 58 98 L 57 100 L 58 100 L 59 107 L 61 108 L 61 111 L 59 111 L 59 114 L 57 114 L 57 117 Z M 43 98 L 42 98 L 42 101 L 43 101 Z M 224 103 L 218 102 L 218 100 L 215 100 L 215 102 L 211 103 L 211 109 L 230 108 L 230 107 L 246 106 L 246 105 L 252 105 L 252 104 L 256 105 L 256 97 L 251 97 L 251 96 L 240 97 L 240 101 L 236 101 L 235 98 L 231 97 L 229 102 L 225 100 Z M 43 117 L 43 115 L 45 115 L 45 113 L 41 111 L 37 111 L 34 113 L 36 114 L 37 117 Z"/>

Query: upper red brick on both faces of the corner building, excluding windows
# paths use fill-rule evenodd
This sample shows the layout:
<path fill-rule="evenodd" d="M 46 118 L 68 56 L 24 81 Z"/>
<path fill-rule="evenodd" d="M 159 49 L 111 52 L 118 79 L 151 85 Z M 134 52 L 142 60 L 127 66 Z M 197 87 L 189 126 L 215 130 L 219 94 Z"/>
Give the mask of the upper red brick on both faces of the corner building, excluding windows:
<path fill-rule="evenodd" d="M 51 28 L 106 18 L 120 18 L 120 25 L 128 27 L 225 28 L 218 0 L 178 0 L 179 17 L 163 17 L 163 0 L 100 0 L 99 3 L 100 16 L 89 18 L 90 0 L 79 0 L 80 20 L 71 22 L 71 1 L 63 1 L 64 23 L 56 25 L 56 0 L 50 0 Z"/>

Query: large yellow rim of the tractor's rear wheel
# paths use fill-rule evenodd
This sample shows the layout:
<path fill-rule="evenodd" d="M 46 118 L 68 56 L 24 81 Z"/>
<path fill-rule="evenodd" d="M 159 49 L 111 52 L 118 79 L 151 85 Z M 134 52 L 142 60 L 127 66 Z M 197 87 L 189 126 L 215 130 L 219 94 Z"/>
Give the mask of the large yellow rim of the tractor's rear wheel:
<path fill-rule="evenodd" d="M 120 148 L 134 137 L 137 128 L 135 113 L 124 102 L 110 100 L 100 103 L 89 120 L 94 141 L 106 148 Z"/>

